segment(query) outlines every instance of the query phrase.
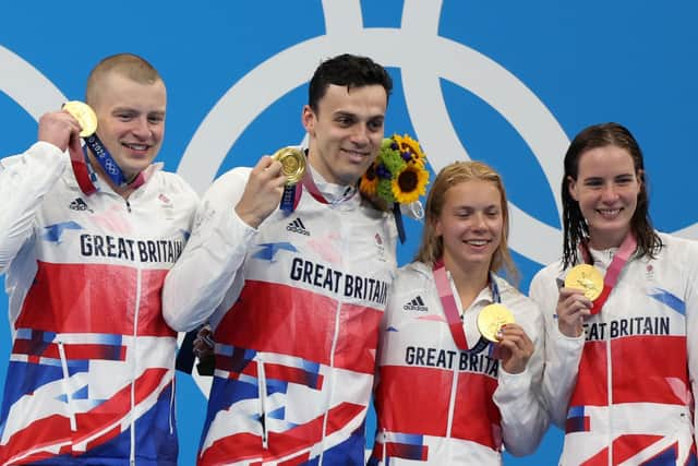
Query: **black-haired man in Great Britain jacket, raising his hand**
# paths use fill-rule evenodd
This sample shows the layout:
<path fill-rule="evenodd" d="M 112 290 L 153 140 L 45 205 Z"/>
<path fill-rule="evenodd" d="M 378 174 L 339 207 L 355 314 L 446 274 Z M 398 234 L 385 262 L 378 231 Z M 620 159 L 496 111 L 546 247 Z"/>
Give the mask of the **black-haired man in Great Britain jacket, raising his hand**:
<path fill-rule="evenodd" d="M 302 111 L 309 169 L 297 205 L 279 208 L 286 177 L 268 156 L 206 193 L 164 294 L 173 328 L 214 328 L 198 464 L 364 464 L 396 229 L 357 188 L 390 88 L 368 58 L 324 61 Z"/>

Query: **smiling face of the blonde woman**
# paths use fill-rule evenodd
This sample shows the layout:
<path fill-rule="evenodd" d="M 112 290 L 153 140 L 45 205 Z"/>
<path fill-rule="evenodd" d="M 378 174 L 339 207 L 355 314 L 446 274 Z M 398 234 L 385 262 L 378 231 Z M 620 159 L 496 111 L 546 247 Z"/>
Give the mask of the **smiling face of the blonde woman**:
<path fill-rule="evenodd" d="M 495 183 L 479 179 L 453 186 L 434 228 L 448 270 L 486 276 L 504 231 L 502 193 Z"/>

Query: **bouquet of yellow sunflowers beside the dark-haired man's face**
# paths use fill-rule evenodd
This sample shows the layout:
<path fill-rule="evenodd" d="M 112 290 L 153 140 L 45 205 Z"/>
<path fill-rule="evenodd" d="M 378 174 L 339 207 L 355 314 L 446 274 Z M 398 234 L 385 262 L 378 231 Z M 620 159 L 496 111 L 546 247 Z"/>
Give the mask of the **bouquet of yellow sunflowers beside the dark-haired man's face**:
<path fill-rule="evenodd" d="M 376 159 L 361 177 L 359 189 L 385 210 L 419 202 L 429 183 L 425 164 L 419 142 L 407 134 L 393 134 L 383 140 Z"/>

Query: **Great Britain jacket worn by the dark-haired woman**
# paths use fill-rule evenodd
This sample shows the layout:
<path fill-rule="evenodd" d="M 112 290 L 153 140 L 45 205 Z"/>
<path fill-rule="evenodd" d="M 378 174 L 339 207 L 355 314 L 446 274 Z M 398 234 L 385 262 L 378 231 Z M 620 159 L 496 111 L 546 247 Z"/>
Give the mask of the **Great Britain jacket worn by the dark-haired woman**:
<path fill-rule="evenodd" d="M 660 235 L 657 259 L 631 259 L 585 334 L 555 315 L 555 263 L 531 283 L 546 327 L 544 393 L 566 431 L 561 465 L 695 464 L 698 244 Z M 605 272 L 614 250 L 591 251 Z M 657 463 L 652 463 L 657 462 Z"/>

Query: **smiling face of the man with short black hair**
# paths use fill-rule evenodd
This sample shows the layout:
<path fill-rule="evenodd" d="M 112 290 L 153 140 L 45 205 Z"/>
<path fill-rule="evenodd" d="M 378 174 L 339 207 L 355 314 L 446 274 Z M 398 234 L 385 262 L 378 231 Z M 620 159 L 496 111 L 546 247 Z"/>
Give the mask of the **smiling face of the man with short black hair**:
<path fill-rule="evenodd" d="M 330 84 L 317 110 L 303 108 L 309 162 L 336 184 L 356 184 L 375 159 L 383 141 L 387 94 L 381 85 Z"/>

